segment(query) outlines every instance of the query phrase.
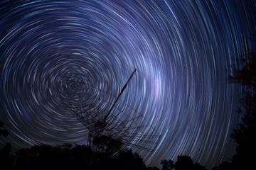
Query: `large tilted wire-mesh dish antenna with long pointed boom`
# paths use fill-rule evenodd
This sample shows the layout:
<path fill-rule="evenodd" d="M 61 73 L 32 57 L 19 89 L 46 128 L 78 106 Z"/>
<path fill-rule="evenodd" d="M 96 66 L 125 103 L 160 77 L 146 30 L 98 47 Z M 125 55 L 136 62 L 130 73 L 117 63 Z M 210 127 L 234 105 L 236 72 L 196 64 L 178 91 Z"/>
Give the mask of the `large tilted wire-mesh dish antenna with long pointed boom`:
<path fill-rule="evenodd" d="M 119 100 L 135 72 L 136 69 L 117 97 L 85 84 L 74 75 L 60 83 L 61 100 L 89 131 L 88 145 L 92 145 L 95 137 L 107 136 L 132 149 L 151 151 L 156 147 L 159 133 L 144 115 Z"/>

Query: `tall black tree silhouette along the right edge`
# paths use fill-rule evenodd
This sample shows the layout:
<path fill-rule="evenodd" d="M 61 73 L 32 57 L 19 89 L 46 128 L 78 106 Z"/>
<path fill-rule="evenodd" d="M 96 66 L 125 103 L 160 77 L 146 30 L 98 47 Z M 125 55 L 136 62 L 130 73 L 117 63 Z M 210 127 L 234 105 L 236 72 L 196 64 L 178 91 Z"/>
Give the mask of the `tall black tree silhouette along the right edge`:
<path fill-rule="evenodd" d="M 238 144 L 232 163 L 235 169 L 250 169 L 255 164 L 256 153 L 256 52 L 249 47 L 238 60 L 238 66 L 231 66 L 230 83 L 241 84 L 241 106 L 237 112 L 242 113 L 242 122 L 233 131 L 231 137 Z"/>

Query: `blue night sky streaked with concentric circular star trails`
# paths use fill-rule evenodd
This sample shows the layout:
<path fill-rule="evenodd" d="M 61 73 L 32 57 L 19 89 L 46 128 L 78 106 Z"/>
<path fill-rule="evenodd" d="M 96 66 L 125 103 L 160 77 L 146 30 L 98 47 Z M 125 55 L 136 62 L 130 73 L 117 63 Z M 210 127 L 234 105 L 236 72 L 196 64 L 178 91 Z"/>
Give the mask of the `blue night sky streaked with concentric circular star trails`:
<path fill-rule="evenodd" d="M 255 1 L 1 1 L 0 119 L 14 148 L 85 143 L 59 84 L 117 96 L 161 135 L 149 166 L 187 154 L 211 167 L 230 159 L 238 87 L 232 57 L 250 45 Z M 1 145 L 6 142 L 4 139 Z"/>

